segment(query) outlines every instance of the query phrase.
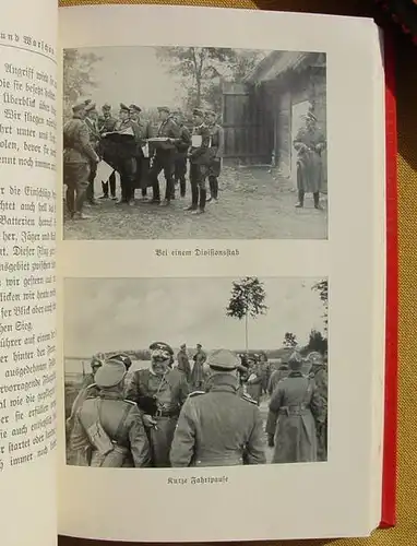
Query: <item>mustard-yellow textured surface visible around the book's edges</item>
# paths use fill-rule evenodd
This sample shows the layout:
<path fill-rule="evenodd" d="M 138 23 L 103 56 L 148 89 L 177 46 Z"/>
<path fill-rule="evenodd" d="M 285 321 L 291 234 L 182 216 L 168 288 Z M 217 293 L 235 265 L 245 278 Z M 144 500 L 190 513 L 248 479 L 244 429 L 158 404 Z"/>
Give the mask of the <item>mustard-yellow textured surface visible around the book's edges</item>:
<path fill-rule="evenodd" d="M 99 3 L 170 3 L 216 5 L 282 11 L 305 11 L 344 15 L 372 15 L 371 0 L 171 0 L 115 1 L 61 0 L 61 5 Z M 389 21 L 386 21 L 390 24 Z M 370 538 L 341 541 L 294 541 L 260 544 L 276 546 L 415 546 L 417 545 L 417 46 L 397 34 L 396 94 L 398 126 L 398 212 L 400 212 L 400 424 L 397 525 L 378 530 Z M 348 514 L 346 514 L 348 518 Z M 60 546 L 93 546 L 103 542 L 60 537 Z M 106 543 L 108 544 L 108 543 Z M 111 543 L 116 545 L 117 543 Z M 121 544 L 121 543 L 120 543 Z M 126 544 L 126 543 L 124 543 Z"/>

